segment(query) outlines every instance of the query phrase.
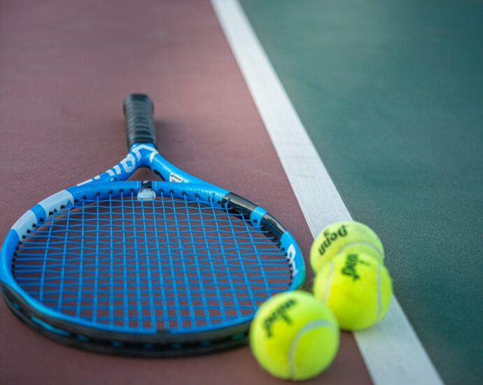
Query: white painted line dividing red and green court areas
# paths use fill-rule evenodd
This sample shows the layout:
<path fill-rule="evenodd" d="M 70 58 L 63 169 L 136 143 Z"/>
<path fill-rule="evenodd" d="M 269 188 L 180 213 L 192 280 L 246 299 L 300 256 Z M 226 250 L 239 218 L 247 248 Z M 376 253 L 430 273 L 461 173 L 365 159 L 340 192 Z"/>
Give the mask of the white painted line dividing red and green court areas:
<path fill-rule="evenodd" d="M 211 3 L 311 234 L 315 237 L 329 223 L 351 220 L 238 1 Z M 319 199 L 312 198 L 314 191 Z M 354 334 L 375 384 L 442 384 L 395 297 L 383 321 Z"/>

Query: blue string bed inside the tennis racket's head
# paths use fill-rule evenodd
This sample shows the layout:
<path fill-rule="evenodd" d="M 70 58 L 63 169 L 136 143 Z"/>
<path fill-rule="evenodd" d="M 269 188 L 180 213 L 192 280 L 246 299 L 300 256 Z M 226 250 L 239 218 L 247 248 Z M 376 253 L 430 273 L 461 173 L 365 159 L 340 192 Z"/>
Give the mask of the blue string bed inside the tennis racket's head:
<path fill-rule="evenodd" d="M 190 331 L 251 318 L 291 272 L 274 239 L 214 202 L 165 193 L 80 200 L 23 240 L 20 286 L 51 309 L 123 330 Z"/>

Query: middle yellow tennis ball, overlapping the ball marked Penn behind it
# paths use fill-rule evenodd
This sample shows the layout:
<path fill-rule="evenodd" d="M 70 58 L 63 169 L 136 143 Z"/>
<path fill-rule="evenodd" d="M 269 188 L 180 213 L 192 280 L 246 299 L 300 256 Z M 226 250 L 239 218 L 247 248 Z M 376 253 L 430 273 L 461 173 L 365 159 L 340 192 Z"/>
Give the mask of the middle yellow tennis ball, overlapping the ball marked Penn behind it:
<path fill-rule="evenodd" d="M 332 309 L 340 328 L 359 330 L 381 320 L 391 302 L 391 276 L 365 253 L 335 255 L 318 270 L 314 295 Z"/>

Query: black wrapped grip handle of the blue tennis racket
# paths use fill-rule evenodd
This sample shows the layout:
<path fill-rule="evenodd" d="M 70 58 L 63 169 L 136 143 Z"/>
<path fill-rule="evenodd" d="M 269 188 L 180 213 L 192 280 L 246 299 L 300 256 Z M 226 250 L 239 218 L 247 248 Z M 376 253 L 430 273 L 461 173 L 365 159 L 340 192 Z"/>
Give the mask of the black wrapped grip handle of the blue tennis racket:
<path fill-rule="evenodd" d="M 127 148 L 134 143 L 156 144 L 154 104 L 146 94 L 129 94 L 124 99 Z"/>

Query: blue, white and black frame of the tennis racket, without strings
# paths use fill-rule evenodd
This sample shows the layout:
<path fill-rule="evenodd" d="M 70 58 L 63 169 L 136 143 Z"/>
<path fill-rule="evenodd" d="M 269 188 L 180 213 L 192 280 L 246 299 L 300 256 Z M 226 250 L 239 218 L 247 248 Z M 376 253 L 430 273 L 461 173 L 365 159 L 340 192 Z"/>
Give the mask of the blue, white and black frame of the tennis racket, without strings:
<path fill-rule="evenodd" d="M 218 330 L 211 325 L 205 330 L 197 328 L 190 335 L 190 330 L 176 335 L 176 330 L 157 332 L 156 330 L 126 330 L 123 327 L 93 325 L 89 321 L 75 318 L 50 309 L 31 297 L 15 281 L 12 272 L 13 256 L 19 243 L 29 232 L 42 225 L 52 214 L 61 213 L 66 207 L 76 205 L 79 200 L 105 198 L 111 194 L 116 196 L 120 190 L 131 191 L 137 195 L 144 188 L 142 181 L 126 181 L 139 167 L 148 167 L 159 174 L 165 181 L 153 181 L 150 186 L 156 192 L 169 191 L 174 197 L 190 199 L 200 197 L 201 200 L 212 202 L 218 209 L 235 209 L 249 218 L 251 225 L 260 229 L 264 227 L 276 235 L 280 248 L 286 251 L 292 271 L 292 282 L 288 290 L 300 288 L 305 278 L 305 267 L 302 253 L 294 237 L 283 228 L 276 219 L 261 207 L 245 200 L 229 190 L 218 188 L 206 181 L 196 178 L 178 167 L 172 165 L 158 153 L 155 145 L 135 143 L 129 153 L 117 165 L 106 172 L 94 176 L 76 186 L 66 188 L 47 199 L 39 202 L 27 211 L 8 232 L 0 255 L 0 283 L 3 295 L 15 314 L 32 327 L 40 330 L 54 339 L 67 344 L 82 346 L 86 349 L 109 351 L 120 348 L 121 353 L 150 356 L 176 356 L 178 346 L 180 355 L 202 353 L 213 350 L 212 342 L 219 339 L 216 350 L 224 347 L 237 346 L 246 342 L 250 317 L 237 318 L 234 322 L 224 325 L 225 330 Z M 116 183 L 113 183 L 116 182 Z M 69 331 L 64 329 L 64 323 L 69 323 Z M 227 335 L 226 330 L 230 330 Z M 107 333 L 107 337 L 106 337 Z M 90 337 L 85 337 L 89 335 Z M 96 341 L 96 338 L 99 338 Z M 153 349 L 153 344 L 169 344 L 169 349 Z M 95 347 L 94 347 L 95 346 Z M 181 349 L 182 348 L 182 349 Z"/>

